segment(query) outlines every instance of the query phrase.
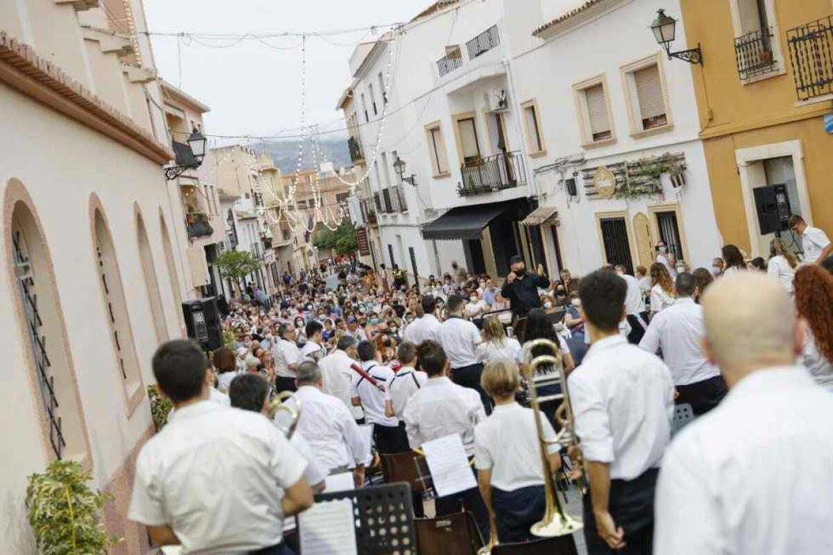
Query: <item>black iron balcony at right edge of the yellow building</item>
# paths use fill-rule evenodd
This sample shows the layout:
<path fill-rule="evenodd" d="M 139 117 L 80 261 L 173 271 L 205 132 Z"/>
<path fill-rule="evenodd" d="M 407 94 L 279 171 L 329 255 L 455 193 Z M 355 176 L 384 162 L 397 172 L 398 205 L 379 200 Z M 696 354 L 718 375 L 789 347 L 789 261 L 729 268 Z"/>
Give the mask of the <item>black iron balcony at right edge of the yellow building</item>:
<path fill-rule="evenodd" d="M 801 102 L 833 94 L 833 16 L 786 32 Z"/>

